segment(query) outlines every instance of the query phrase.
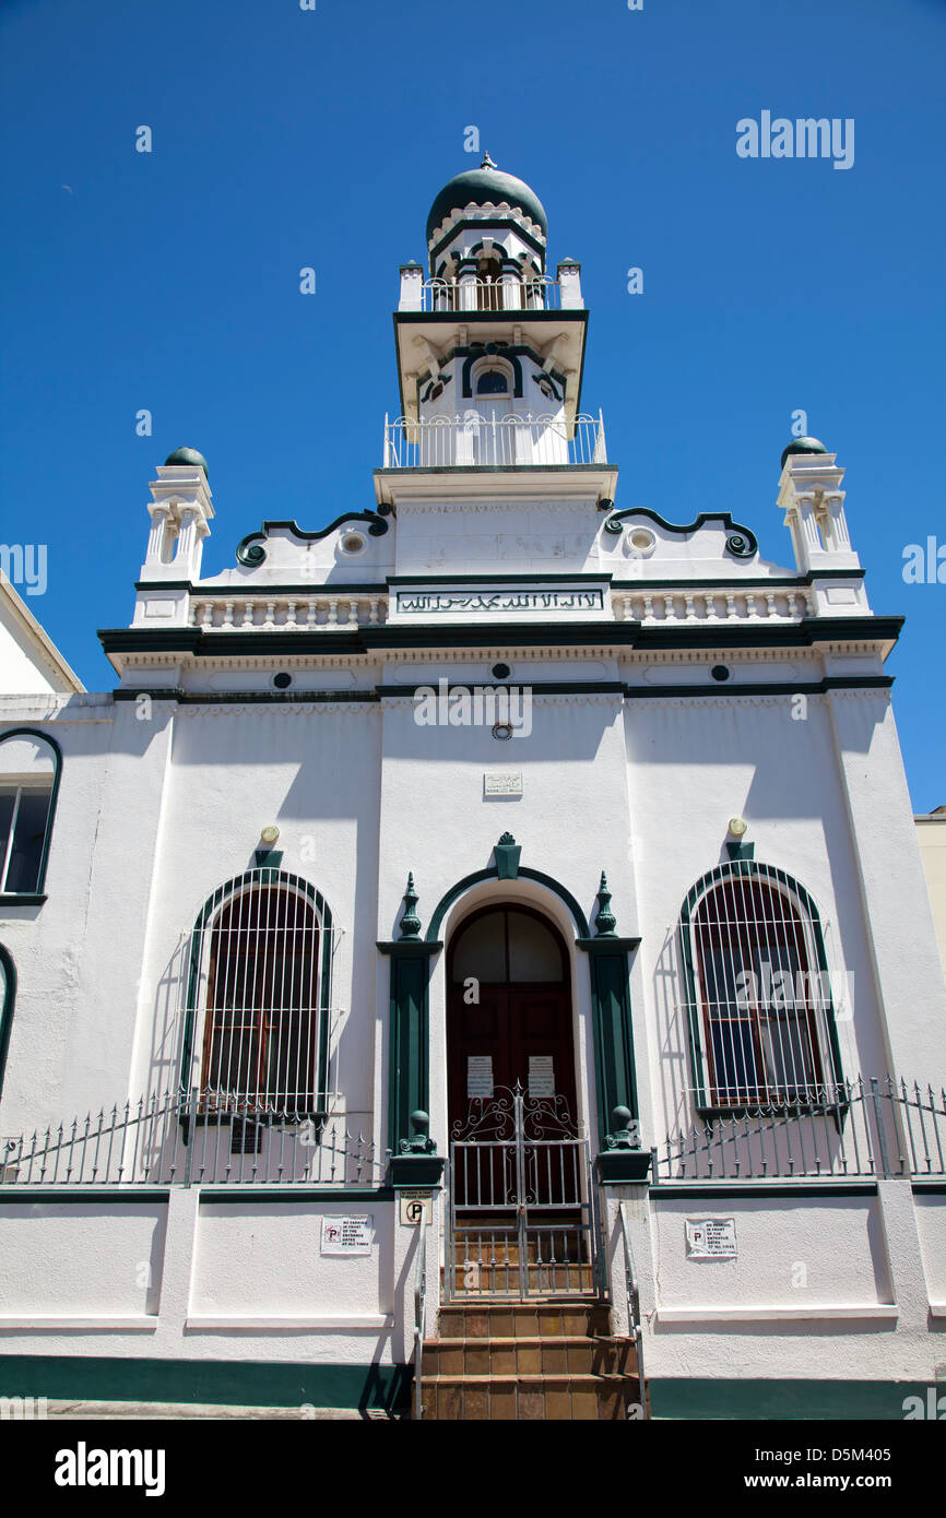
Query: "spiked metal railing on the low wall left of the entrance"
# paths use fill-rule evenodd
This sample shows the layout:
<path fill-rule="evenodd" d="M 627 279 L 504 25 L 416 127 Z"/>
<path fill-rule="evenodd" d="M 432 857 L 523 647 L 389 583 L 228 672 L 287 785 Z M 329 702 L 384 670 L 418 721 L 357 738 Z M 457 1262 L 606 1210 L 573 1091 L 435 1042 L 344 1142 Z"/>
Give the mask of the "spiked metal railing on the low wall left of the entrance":
<path fill-rule="evenodd" d="M 213 1113 L 213 1117 L 208 1116 Z M 386 1155 L 345 1119 L 302 1117 L 222 1090 L 141 1096 L 0 1138 L 0 1192 L 29 1186 L 381 1184 Z"/>

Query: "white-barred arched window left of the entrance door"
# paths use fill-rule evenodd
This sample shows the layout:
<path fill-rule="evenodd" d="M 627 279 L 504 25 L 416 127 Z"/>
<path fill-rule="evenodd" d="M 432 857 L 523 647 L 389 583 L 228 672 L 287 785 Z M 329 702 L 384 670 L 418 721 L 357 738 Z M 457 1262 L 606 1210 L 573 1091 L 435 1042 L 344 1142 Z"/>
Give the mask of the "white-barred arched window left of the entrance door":
<path fill-rule="evenodd" d="M 330 996 L 331 914 L 308 882 L 263 868 L 217 891 L 194 927 L 185 1037 L 190 1082 L 202 1011 L 203 1111 L 323 1111 Z"/>

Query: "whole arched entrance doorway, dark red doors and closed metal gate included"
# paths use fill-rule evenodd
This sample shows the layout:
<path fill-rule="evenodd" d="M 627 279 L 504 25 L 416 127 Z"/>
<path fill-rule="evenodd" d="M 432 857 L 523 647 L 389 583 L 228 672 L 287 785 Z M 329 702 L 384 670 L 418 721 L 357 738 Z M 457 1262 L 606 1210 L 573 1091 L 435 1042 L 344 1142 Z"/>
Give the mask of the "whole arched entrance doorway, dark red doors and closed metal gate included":
<path fill-rule="evenodd" d="M 446 1299 L 595 1295 L 562 935 L 528 906 L 492 902 L 454 932 L 446 976 Z"/>

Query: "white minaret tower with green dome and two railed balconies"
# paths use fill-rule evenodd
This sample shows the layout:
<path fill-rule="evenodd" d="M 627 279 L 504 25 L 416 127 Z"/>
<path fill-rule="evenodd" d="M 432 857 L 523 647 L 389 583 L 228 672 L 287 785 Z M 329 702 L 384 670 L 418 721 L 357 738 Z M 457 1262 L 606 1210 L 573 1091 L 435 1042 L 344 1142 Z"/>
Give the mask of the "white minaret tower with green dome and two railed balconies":
<path fill-rule="evenodd" d="M 580 414 L 588 313 L 582 270 L 545 269 L 542 202 L 489 153 L 427 219 L 428 278 L 401 267 L 395 313 L 401 417 L 386 466 L 566 466 L 604 458 Z M 415 424 L 421 424 L 416 427 Z"/>

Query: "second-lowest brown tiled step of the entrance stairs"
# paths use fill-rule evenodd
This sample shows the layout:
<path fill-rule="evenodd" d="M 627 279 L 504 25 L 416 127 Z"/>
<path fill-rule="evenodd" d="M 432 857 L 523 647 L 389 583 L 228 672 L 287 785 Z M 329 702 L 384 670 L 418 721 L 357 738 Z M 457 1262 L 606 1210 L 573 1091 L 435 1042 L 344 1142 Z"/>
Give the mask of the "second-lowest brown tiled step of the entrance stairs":
<path fill-rule="evenodd" d="M 635 1375 L 632 1339 L 545 1334 L 521 1339 L 428 1339 L 427 1377 Z"/>

